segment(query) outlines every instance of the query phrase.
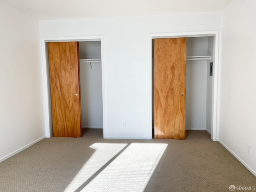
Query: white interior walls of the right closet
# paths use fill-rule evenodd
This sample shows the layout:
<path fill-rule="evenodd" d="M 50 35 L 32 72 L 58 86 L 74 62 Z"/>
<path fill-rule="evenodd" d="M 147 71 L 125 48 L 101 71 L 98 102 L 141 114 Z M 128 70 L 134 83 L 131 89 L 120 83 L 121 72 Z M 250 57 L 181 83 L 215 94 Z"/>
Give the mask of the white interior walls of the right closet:
<path fill-rule="evenodd" d="M 211 55 L 211 60 L 187 60 L 186 130 L 207 130 L 212 125 L 212 76 L 210 62 L 214 37 L 187 38 L 187 56 Z M 154 129 L 154 39 L 152 39 L 152 129 Z"/>

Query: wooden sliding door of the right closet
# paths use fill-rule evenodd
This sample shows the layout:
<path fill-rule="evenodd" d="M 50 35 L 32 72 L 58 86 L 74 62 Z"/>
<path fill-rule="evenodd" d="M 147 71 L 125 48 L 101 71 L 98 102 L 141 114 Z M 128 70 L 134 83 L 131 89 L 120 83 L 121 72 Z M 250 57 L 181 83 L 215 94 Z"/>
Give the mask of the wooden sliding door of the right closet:
<path fill-rule="evenodd" d="M 186 38 L 154 40 L 154 136 L 185 139 Z"/>

